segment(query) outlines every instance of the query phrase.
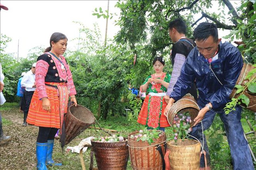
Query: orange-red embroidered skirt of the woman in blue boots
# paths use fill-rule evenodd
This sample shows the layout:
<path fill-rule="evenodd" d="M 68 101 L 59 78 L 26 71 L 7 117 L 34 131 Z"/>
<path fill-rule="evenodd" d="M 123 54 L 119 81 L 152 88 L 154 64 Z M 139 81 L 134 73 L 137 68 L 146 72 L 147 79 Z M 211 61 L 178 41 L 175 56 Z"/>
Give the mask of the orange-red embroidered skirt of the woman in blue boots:
<path fill-rule="evenodd" d="M 46 82 L 45 84 L 46 93 L 50 101 L 50 111 L 42 108 L 42 100 L 39 99 L 38 92 L 35 90 L 29 106 L 27 123 L 40 127 L 60 129 L 63 123 L 63 115 L 67 113 L 68 89 L 66 83 Z"/>

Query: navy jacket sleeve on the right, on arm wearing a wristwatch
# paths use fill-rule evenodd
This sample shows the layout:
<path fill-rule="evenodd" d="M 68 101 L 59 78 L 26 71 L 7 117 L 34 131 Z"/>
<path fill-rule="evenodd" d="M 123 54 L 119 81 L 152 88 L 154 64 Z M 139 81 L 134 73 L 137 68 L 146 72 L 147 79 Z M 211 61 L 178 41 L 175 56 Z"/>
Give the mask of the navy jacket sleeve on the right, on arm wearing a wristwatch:
<path fill-rule="evenodd" d="M 229 95 L 235 87 L 243 67 L 243 59 L 237 48 L 230 48 L 226 54 L 229 55 L 227 55 L 223 61 L 222 76 L 224 81 L 221 82 L 223 85 L 208 98 L 209 102 L 213 105 L 213 108 L 218 108 L 230 101 Z"/>

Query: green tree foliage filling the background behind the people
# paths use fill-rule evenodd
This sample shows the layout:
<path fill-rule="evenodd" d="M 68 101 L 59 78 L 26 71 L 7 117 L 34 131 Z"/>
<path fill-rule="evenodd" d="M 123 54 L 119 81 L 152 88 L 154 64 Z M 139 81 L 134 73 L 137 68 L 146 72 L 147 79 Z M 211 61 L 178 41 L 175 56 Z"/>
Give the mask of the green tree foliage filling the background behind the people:
<path fill-rule="evenodd" d="M 234 8 L 234 3 L 239 7 Z M 129 105 L 128 85 L 140 87 L 153 73 L 151 63 L 154 57 L 163 56 L 167 61 L 164 71 L 171 73 L 168 58 L 173 43 L 168 35 L 168 24 L 176 18 L 187 23 L 186 36 L 192 39 L 193 29 L 203 20 L 216 23 L 220 29 L 229 29 L 230 34 L 225 38 L 230 42 L 239 39 L 241 45 L 238 48 L 243 56 L 248 62 L 255 63 L 255 1 L 129 0 L 118 1 L 116 7 L 121 11 L 116 21 L 120 31 L 114 38 L 108 38 L 106 47 L 99 41 L 101 34 L 97 24 L 90 30 L 76 22 L 80 24 L 80 49 L 65 53 L 79 104 L 91 109 L 99 118 L 122 114 L 123 108 Z M 93 15 L 111 19 L 114 14 L 103 12 L 103 8 L 95 9 Z M 27 58 L 17 62 L 12 54 L 4 51 L 9 41 L 11 38 L 1 34 L 0 57 L 6 76 L 4 93 L 7 101 L 18 101 L 15 97 L 17 80 L 36 62 L 43 48 L 31 49 Z"/>

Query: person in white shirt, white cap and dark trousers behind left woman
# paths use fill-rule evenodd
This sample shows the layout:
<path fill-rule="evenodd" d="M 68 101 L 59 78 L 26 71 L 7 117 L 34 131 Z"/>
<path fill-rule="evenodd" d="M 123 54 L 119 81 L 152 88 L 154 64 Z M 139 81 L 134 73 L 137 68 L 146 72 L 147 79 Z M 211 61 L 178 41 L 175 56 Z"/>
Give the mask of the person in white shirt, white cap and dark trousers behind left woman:
<path fill-rule="evenodd" d="M 25 87 L 24 100 L 25 100 L 26 106 L 25 106 L 25 109 L 23 110 L 24 118 L 23 118 L 23 124 L 22 124 L 22 126 L 25 126 L 25 127 L 27 126 L 26 120 L 28 116 L 29 105 L 35 91 L 35 65 L 36 63 L 32 65 L 31 70 L 29 70 L 21 80 L 21 86 Z"/>

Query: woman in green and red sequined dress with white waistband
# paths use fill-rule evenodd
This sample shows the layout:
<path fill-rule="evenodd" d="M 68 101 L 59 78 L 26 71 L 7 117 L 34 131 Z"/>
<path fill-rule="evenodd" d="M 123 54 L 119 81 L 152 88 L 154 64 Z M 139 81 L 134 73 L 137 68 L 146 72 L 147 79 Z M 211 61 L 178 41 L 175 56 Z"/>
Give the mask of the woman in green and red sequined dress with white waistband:
<path fill-rule="evenodd" d="M 171 76 L 163 72 L 164 59 L 156 57 L 153 61 L 155 73 L 146 78 L 143 85 L 140 86 L 141 92 L 146 92 L 147 96 L 141 107 L 138 116 L 138 123 L 146 125 L 148 129 L 164 130 L 170 126 L 166 116 L 163 115 L 166 107 L 164 96 L 166 95 Z"/>

